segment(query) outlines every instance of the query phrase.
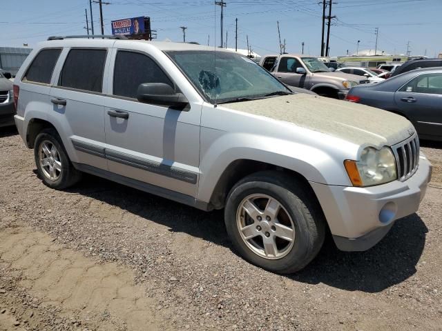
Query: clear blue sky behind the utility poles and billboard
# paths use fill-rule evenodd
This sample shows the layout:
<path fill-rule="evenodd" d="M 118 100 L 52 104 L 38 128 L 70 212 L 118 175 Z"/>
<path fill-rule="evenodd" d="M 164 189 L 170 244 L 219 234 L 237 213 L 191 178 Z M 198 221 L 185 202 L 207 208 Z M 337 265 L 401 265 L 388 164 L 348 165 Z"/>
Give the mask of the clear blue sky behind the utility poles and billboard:
<path fill-rule="evenodd" d="M 186 40 L 220 43 L 220 6 L 206 0 L 104 0 L 105 33 L 111 21 L 149 16 L 158 40 L 182 41 L 180 26 L 186 26 Z M 320 0 L 225 0 L 224 35 L 228 47 L 235 47 L 235 19 L 238 17 L 238 48 L 258 54 L 278 52 L 278 30 L 286 40 L 287 52 L 320 53 L 322 5 Z M 328 0 L 327 0 L 328 1 Z M 442 0 L 334 0 L 330 52 L 332 56 L 374 49 L 379 28 L 378 49 L 404 54 L 410 41 L 412 55 L 434 57 L 442 52 Z M 86 34 L 84 9 L 88 0 L 1 0 L 0 46 L 30 47 L 53 34 Z M 99 32 L 99 6 L 93 3 L 95 33 Z"/>

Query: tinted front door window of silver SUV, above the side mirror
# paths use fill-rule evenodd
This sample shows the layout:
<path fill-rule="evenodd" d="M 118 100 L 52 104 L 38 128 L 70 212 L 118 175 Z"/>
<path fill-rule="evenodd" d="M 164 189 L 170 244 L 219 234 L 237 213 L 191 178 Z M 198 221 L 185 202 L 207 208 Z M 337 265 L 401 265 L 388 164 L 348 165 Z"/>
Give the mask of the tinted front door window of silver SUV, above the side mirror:
<path fill-rule="evenodd" d="M 173 83 L 150 57 L 138 53 L 119 50 L 115 59 L 113 74 L 113 94 L 137 99 L 138 86 L 142 83 Z"/>

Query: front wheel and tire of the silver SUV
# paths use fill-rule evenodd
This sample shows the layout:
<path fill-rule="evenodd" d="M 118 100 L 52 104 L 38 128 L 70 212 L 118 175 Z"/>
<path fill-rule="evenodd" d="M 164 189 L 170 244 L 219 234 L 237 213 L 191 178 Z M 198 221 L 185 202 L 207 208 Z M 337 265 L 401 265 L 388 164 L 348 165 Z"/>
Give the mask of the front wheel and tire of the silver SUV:
<path fill-rule="evenodd" d="M 238 182 L 227 198 L 224 220 L 244 259 L 280 274 L 304 268 L 325 237 L 325 218 L 314 193 L 296 177 L 276 171 Z"/>

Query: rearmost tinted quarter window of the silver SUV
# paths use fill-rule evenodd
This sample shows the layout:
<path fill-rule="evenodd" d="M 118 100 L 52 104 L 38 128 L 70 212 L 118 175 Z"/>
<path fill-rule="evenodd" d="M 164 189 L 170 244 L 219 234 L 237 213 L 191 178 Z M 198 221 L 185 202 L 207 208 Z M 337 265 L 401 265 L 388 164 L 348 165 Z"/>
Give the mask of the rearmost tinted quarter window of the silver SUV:
<path fill-rule="evenodd" d="M 41 50 L 30 64 L 23 80 L 49 84 L 60 53 L 61 48 Z"/>

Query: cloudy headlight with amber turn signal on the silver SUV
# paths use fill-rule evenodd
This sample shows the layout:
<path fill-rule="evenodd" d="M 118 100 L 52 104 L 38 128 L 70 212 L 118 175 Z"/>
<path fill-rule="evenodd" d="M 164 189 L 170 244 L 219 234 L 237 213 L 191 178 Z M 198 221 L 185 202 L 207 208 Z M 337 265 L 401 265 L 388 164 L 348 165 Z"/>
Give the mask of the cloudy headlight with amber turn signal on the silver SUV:
<path fill-rule="evenodd" d="M 344 165 L 354 186 L 373 186 L 397 179 L 396 159 L 389 147 L 367 147 L 360 161 L 345 160 Z"/>

